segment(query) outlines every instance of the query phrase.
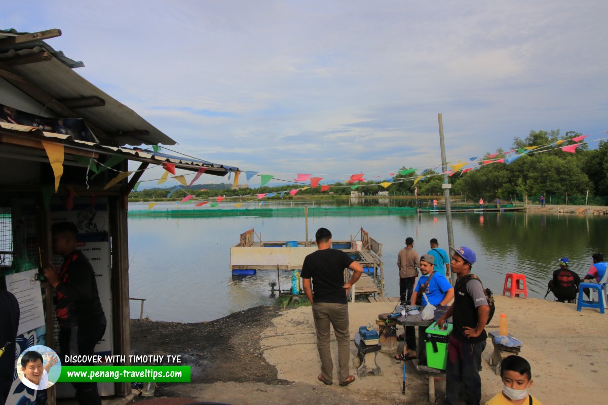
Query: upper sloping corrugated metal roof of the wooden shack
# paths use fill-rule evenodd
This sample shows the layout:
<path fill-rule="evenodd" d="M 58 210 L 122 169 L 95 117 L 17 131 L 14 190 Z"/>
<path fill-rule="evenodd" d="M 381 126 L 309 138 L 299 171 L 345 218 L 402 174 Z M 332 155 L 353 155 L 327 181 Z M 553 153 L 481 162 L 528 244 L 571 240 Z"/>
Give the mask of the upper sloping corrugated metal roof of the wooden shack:
<path fill-rule="evenodd" d="M 15 30 L 2 30 L 0 32 L 0 39 L 23 34 Z M 94 126 L 98 129 L 97 133 L 95 133 L 95 128 L 91 128 L 95 136 L 100 138 L 103 143 L 114 143 L 115 145 L 175 145 L 176 142 L 164 134 L 164 132 L 148 123 L 148 121 L 144 120 L 132 109 L 98 89 L 98 87 L 71 69 L 72 67 L 82 66 L 81 63 L 66 58 L 63 53 L 55 51 L 44 41 L 31 41 L 26 44 L 13 44 L 4 46 L 3 48 L 0 47 L 0 63 L 4 60 L 9 61 L 16 55 L 35 55 L 36 53 L 43 53 L 45 51 L 53 56 L 50 60 L 15 64 L 14 66 L 10 66 L 10 71 L 26 79 L 29 83 L 38 87 L 38 89 L 43 90 L 54 101 L 59 101 L 59 103 L 61 103 L 61 100 L 84 97 L 98 97 L 105 101 L 104 106 L 74 110 L 75 115 L 70 117 L 85 118 L 89 126 Z M 6 79 L 11 81 L 10 78 Z M 23 90 L 23 87 L 19 86 L 18 83 L 13 84 Z M 62 115 L 66 116 L 65 114 Z M 105 135 L 101 134 L 101 131 Z M 133 131 L 147 131 L 148 134 L 133 134 Z"/>

